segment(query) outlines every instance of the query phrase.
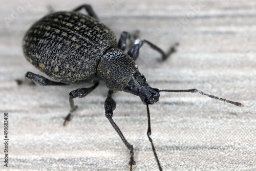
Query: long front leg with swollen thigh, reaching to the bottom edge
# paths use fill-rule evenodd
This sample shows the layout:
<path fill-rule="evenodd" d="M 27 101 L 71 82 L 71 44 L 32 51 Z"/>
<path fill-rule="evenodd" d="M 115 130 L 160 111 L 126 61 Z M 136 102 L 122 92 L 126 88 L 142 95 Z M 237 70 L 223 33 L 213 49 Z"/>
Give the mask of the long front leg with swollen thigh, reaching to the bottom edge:
<path fill-rule="evenodd" d="M 130 158 L 129 165 L 130 165 L 130 170 L 133 170 L 133 165 L 136 165 L 136 162 L 134 161 L 133 145 L 131 145 L 129 142 L 127 142 L 127 140 L 123 136 L 121 130 L 119 129 L 119 127 L 116 125 L 116 123 L 112 119 L 113 111 L 116 109 L 116 102 L 112 98 L 112 95 L 113 95 L 113 91 L 110 90 L 109 93 L 108 93 L 108 97 L 106 97 L 105 104 L 104 104 L 104 106 L 105 106 L 105 116 L 106 116 L 106 118 L 109 119 L 111 125 L 114 127 L 114 129 L 116 130 L 117 134 L 122 139 L 125 146 L 130 150 L 131 158 Z"/>

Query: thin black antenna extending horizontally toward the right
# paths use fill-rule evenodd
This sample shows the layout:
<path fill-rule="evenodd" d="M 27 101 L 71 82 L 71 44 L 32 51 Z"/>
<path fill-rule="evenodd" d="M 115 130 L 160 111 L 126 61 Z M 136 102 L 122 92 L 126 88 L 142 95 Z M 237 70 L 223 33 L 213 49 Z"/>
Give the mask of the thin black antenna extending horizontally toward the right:
<path fill-rule="evenodd" d="M 208 96 L 210 98 L 214 98 L 214 99 L 217 99 L 217 100 L 221 100 L 221 101 L 225 101 L 227 103 L 231 103 L 231 104 L 234 104 L 234 105 L 237 105 L 237 106 L 240 106 L 240 107 L 243 107 L 244 105 L 240 102 L 235 102 L 235 101 L 230 101 L 230 100 L 227 100 L 227 99 L 223 99 L 223 98 L 220 98 L 220 97 L 217 97 L 217 96 L 212 96 L 212 95 L 209 95 L 209 94 L 206 94 L 200 90 L 197 90 L 197 89 L 188 89 L 188 90 L 159 90 L 159 92 L 175 92 L 175 93 L 200 93 L 202 95 L 205 95 L 205 96 Z"/>

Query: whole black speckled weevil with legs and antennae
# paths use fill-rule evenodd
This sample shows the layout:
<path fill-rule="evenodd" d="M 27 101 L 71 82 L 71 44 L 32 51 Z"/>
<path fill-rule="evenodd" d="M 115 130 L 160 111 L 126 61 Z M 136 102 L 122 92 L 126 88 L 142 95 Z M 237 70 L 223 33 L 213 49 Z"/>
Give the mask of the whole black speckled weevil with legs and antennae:
<path fill-rule="evenodd" d="M 89 15 L 77 12 L 83 8 L 86 9 Z M 135 60 L 139 56 L 139 49 L 143 44 L 147 44 L 159 52 L 162 55 L 162 60 L 165 60 L 175 52 L 176 45 L 170 48 L 167 53 L 164 53 L 150 41 L 136 39 L 127 53 L 125 53 L 126 40 L 131 40 L 131 38 L 132 36 L 129 33 L 122 32 L 117 44 L 113 31 L 99 22 L 90 5 L 82 5 L 73 12 L 51 13 L 38 20 L 27 31 L 23 40 L 23 51 L 30 63 L 49 77 L 58 80 L 58 82 L 51 81 L 32 72 L 27 72 L 26 77 L 41 86 L 94 83 L 94 86 L 90 88 L 79 88 L 70 92 L 69 102 L 71 109 L 65 118 L 64 125 L 66 121 L 71 120 L 71 114 L 77 108 L 73 99 L 87 96 L 98 86 L 99 80 L 103 80 L 109 88 L 108 96 L 104 103 L 105 116 L 130 150 L 130 170 L 133 169 L 133 165 L 136 165 L 133 145 L 127 142 L 112 119 L 113 111 L 116 108 L 116 102 L 112 96 L 117 91 L 139 96 L 147 109 L 147 137 L 151 142 L 159 170 L 162 170 L 150 137 L 151 123 L 150 110 L 148 108 L 148 104 L 154 104 L 159 100 L 160 92 L 199 92 L 202 95 L 237 106 L 243 106 L 243 104 L 208 95 L 197 89 L 159 90 L 151 88 L 135 64 Z"/>

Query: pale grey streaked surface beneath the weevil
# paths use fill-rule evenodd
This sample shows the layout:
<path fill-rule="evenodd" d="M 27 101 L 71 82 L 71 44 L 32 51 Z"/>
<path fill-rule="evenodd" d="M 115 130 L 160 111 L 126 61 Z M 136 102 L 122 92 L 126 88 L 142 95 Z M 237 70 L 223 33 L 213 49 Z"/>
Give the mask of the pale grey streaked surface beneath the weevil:
<path fill-rule="evenodd" d="M 100 82 L 78 105 L 72 121 L 69 92 L 91 85 L 23 84 L 27 71 L 42 74 L 23 56 L 27 29 L 49 10 L 71 10 L 84 1 L 0 1 L 0 138 L 9 116 L 9 170 L 129 170 L 130 153 L 104 116 L 108 89 Z M 152 139 L 163 170 L 256 170 L 256 2 L 86 1 L 117 38 L 140 31 L 167 51 L 165 62 L 143 45 L 136 60 L 151 87 L 192 89 L 242 102 L 240 108 L 200 94 L 161 92 L 150 105 Z M 46 76 L 45 74 L 42 74 Z M 158 170 L 146 137 L 146 106 L 128 93 L 114 95 L 113 119 L 134 145 L 134 170 Z M 3 141 L 2 141 L 3 142 Z M 4 157 L 0 145 L 0 157 Z M 1 160 L 0 169 L 5 168 Z"/>

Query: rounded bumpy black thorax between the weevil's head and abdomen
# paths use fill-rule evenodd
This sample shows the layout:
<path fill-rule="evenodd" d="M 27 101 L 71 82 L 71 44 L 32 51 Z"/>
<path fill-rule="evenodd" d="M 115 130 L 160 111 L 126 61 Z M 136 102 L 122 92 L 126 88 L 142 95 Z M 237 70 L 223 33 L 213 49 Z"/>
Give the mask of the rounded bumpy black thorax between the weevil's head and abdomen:
<path fill-rule="evenodd" d="M 118 48 L 108 50 L 99 61 L 97 77 L 114 91 L 123 91 L 133 75 L 138 71 L 135 61 Z"/>

